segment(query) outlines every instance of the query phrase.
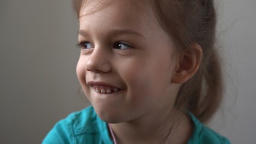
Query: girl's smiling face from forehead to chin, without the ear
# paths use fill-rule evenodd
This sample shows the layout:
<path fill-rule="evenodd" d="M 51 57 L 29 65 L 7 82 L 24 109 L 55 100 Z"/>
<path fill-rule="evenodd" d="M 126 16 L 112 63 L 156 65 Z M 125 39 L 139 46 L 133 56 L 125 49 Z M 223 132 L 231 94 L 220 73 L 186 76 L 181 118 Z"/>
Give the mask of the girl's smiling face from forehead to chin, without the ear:
<path fill-rule="evenodd" d="M 172 109 L 178 85 L 174 46 L 149 5 L 113 1 L 81 11 L 77 75 L 103 121 L 117 123 Z"/>

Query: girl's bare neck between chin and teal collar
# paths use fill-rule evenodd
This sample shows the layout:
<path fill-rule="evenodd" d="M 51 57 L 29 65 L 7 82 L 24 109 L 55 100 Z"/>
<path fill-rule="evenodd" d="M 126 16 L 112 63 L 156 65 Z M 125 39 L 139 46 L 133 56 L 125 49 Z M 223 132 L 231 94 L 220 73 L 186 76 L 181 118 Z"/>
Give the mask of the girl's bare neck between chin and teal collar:
<path fill-rule="evenodd" d="M 192 134 L 189 118 L 177 110 L 165 113 L 170 114 L 159 113 L 136 121 L 110 124 L 117 144 L 186 143 Z"/>

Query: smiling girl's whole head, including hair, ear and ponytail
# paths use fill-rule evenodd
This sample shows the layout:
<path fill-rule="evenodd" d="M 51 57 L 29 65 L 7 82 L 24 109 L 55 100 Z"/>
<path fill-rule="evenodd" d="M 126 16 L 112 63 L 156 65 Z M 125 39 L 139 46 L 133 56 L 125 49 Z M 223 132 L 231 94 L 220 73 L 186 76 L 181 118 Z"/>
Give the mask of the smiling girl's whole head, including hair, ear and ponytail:
<path fill-rule="evenodd" d="M 103 120 L 175 108 L 204 122 L 215 113 L 222 82 L 212 1 L 73 2 L 82 48 L 78 79 Z"/>

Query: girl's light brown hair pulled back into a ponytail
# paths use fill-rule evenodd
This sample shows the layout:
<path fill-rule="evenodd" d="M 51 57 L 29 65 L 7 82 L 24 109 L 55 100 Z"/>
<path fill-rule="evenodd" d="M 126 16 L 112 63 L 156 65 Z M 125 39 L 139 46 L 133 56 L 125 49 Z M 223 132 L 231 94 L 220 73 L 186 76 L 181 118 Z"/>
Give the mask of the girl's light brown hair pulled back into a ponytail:
<path fill-rule="evenodd" d="M 73 0 L 78 19 L 87 0 Z M 222 100 L 222 73 L 215 47 L 216 14 L 213 0 L 151 0 L 160 25 L 174 39 L 178 50 L 199 44 L 203 58 L 197 73 L 181 85 L 175 107 L 188 110 L 207 122 Z M 195 53 L 197 54 L 197 53 Z"/>

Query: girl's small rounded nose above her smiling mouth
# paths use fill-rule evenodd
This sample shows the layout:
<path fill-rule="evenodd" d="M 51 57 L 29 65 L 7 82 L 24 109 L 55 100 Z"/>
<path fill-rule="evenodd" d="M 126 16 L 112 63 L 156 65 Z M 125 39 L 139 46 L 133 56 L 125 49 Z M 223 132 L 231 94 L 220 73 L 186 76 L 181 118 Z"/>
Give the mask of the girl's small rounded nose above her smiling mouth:
<path fill-rule="evenodd" d="M 107 73 L 111 70 L 110 56 L 102 49 L 94 48 L 87 61 L 87 71 L 94 73 Z"/>

